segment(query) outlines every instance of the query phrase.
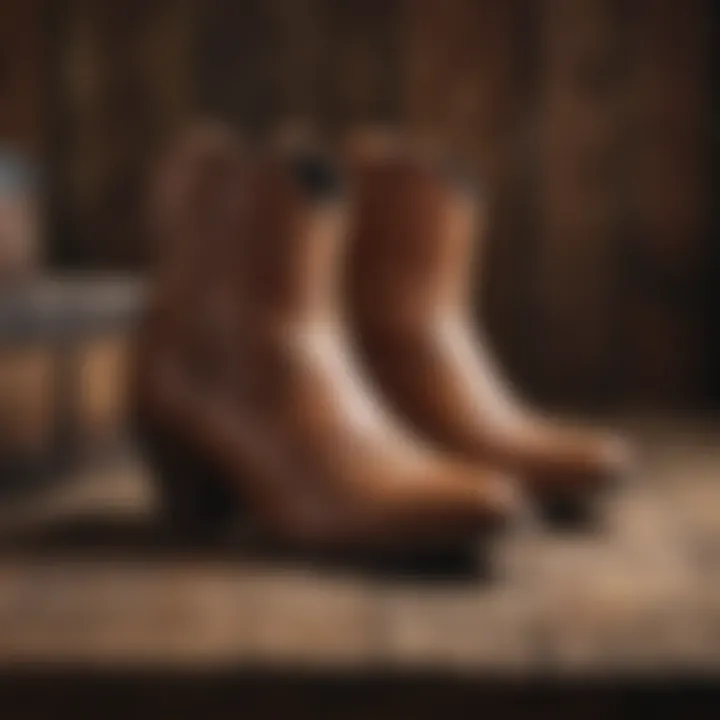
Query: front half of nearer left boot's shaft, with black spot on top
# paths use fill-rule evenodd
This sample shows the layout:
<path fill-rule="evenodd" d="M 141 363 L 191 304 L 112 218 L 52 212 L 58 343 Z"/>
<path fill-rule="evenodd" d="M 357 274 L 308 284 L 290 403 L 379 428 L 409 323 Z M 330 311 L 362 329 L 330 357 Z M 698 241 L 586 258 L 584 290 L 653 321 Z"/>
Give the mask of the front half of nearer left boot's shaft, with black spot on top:
<path fill-rule="evenodd" d="M 257 153 L 236 246 L 239 303 L 259 325 L 335 321 L 347 231 L 338 170 L 315 150 Z"/>

